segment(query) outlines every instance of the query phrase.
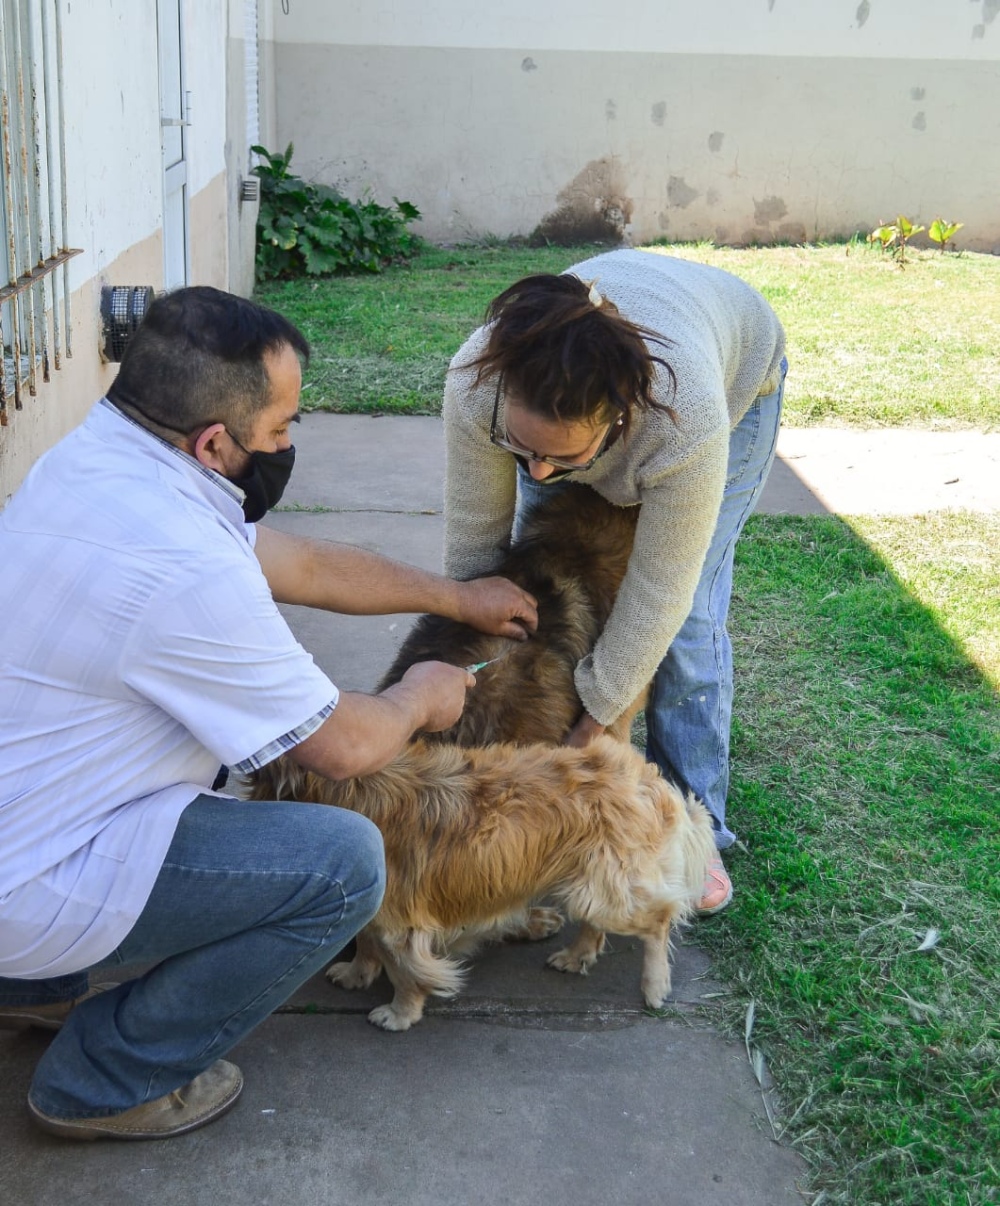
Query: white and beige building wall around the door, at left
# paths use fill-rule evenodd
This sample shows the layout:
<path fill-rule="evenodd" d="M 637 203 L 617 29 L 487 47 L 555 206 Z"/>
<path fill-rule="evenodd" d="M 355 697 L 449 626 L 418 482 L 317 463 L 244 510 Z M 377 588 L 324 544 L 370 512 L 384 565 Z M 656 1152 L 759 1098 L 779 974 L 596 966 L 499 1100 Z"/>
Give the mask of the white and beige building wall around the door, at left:
<path fill-rule="evenodd" d="M 182 0 L 182 37 L 192 122 L 186 131 L 191 280 L 247 292 L 255 213 L 239 207 L 227 171 L 227 154 L 246 159 L 242 96 L 232 106 L 227 101 L 244 2 Z M 163 283 L 156 0 L 60 0 L 60 8 L 68 244 L 82 251 L 69 263 L 72 356 L 64 355 L 60 370 L 40 382 L 36 397 L 25 396 L 21 410 L 8 408 L 8 423 L 0 428 L 0 507 L 113 380 L 116 365 L 100 355 L 101 286 Z M 232 35 L 230 8 L 238 10 Z"/>

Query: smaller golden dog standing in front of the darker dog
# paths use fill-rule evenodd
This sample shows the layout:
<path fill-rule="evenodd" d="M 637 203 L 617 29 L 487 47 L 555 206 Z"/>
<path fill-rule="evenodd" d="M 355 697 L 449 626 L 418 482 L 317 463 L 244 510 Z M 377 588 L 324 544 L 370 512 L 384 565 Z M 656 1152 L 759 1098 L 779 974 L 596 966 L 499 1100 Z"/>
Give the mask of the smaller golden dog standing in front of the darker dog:
<path fill-rule="evenodd" d="M 476 939 L 557 929 L 554 909 L 530 908 L 539 897 L 583 921 L 550 966 L 586 974 L 606 930 L 634 935 L 643 997 L 663 1003 L 671 927 L 697 903 L 715 843 L 706 809 L 630 745 L 417 740 L 375 774 L 340 783 L 280 761 L 285 777 L 258 783 L 253 798 L 337 804 L 382 832 L 382 906 L 357 936 L 353 961 L 327 971 L 334 984 L 367 988 L 385 968 L 396 994 L 369 1013 L 375 1025 L 408 1030 L 429 994 L 454 996 L 463 971 L 451 956 Z"/>

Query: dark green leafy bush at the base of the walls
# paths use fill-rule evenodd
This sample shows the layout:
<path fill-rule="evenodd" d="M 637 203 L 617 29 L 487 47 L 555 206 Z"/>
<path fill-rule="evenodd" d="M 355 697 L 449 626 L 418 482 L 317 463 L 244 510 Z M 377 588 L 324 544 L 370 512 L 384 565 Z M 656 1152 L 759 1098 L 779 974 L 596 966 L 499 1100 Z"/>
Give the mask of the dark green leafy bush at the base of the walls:
<path fill-rule="evenodd" d="M 288 170 L 293 145 L 283 154 L 262 146 L 253 175 L 261 181 L 257 215 L 257 279 L 323 276 L 329 273 L 380 273 L 413 256 L 420 240 L 408 224 L 420 217 L 409 201 L 392 209 L 367 199 L 350 201 L 328 185 L 316 185 Z"/>

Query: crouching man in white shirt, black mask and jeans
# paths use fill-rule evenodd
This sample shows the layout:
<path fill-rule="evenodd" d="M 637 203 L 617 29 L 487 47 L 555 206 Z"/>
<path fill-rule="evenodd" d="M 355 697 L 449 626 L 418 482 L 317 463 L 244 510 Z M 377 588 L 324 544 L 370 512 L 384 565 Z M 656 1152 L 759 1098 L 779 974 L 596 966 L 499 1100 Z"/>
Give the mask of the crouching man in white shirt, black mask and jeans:
<path fill-rule="evenodd" d="M 118 376 L 0 513 L 0 1026 L 59 1030 L 29 1111 L 66 1137 L 182 1134 L 242 1087 L 224 1055 L 374 915 L 381 838 L 212 790 L 281 753 L 332 778 L 446 728 L 440 662 L 340 692 L 276 603 L 433 611 L 524 637 L 534 601 L 256 521 L 291 472 L 304 336 L 242 298 L 153 303 Z M 88 989 L 100 965 L 152 964 Z"/>

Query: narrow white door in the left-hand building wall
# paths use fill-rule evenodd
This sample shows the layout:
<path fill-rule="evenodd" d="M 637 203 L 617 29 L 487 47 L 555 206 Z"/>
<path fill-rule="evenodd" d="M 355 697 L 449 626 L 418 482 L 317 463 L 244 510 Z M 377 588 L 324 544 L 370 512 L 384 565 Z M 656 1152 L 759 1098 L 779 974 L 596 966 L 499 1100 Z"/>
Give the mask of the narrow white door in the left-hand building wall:
<path fill-rule="evenodd" d="M 188 280 L 187 163 L 188 93 L 181 53 L 182 0 L 157 0 L 159 125 L 163 148 L 163 285 Z"/>

